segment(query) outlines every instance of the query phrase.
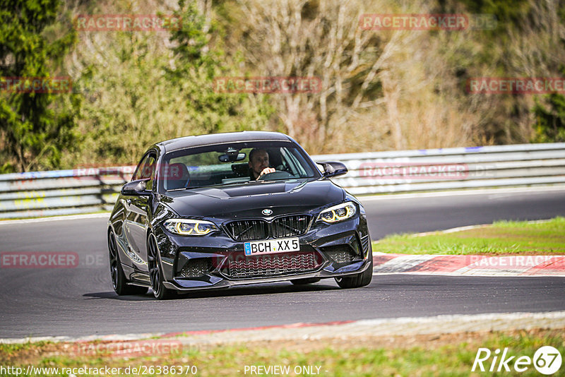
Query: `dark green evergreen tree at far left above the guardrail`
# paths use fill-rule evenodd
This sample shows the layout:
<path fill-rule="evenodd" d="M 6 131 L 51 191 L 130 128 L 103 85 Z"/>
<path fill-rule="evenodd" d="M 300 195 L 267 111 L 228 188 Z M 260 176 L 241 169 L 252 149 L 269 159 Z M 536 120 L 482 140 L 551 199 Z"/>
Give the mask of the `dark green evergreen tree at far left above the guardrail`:
<path fill-rule="evenodd" d="M 0 2 L 0 172 L 57 168 L 76 140 L 77 96 L 6 90 L 10 78 L 60 75 L 76 32 L 69 25 L 61 32 L 58 9 L 59 0 Z"/>

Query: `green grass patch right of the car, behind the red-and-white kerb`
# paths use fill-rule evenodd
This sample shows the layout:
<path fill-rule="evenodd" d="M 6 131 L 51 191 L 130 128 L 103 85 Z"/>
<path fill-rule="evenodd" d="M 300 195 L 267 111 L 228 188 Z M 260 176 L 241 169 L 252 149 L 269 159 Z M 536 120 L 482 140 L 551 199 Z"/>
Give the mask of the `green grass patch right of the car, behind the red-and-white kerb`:
<path fill-rule="evenodd" d="M 565 255 L 565 217 L 547 222 L 499 221 L 461 232 L 394 234 L 373 251 L 401 254 Z"/>

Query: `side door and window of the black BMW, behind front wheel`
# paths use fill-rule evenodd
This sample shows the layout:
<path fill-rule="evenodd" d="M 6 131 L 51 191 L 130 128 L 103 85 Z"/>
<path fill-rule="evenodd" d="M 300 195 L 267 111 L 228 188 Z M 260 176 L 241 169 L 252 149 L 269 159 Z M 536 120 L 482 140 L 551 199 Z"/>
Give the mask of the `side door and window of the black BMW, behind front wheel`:
<path fill-rule="evenodd" d="M 139 164 L 133 180 L 148 179 L 145 188 L 153 191 L 155 181 L 155 161 L 154 151 L 148 152 Z M 147 242 L 146 234 L 148 229 L 148 205 L 152 198 L 150 196 L 126 196 L 124 197 L 126 208 L 126 237 L 133 253 L 132 260 L 135 267 L 139 270 L 147 270 Z"/>

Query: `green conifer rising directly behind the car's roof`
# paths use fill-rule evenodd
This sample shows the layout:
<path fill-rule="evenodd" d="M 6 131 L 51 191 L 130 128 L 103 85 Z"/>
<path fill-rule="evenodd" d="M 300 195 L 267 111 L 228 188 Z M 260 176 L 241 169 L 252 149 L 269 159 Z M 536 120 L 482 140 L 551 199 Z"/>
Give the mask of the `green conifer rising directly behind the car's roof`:
<path fill-rule="evenodd" d="M 207 24 L 194 1 L 179 1 L 175 16 L 181 27 L 172 30 L 175 68 L 168 71 L 172 85 L 182 85 L 191 112 L 191 127 L 206 133 L 263 129 L 273 109 L 264 95 L 222 93 L 214 90 L 218 76 L 243 76 L 225 62 L 221 47 L 210 42 L 215 25 Z"/>

